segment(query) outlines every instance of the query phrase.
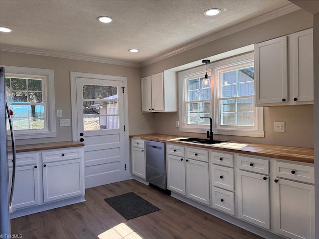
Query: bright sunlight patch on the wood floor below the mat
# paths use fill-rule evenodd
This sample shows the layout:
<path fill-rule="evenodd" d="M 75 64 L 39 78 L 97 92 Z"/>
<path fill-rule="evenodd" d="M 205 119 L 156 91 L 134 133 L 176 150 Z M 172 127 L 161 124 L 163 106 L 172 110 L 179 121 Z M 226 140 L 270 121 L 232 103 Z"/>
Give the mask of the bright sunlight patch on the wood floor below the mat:
<path fill-rule="evenodd" d="M 108 229 L 99 234 L 98 237 L 99 239 L 143 239 L 125 223 L 120 223 Z"/>

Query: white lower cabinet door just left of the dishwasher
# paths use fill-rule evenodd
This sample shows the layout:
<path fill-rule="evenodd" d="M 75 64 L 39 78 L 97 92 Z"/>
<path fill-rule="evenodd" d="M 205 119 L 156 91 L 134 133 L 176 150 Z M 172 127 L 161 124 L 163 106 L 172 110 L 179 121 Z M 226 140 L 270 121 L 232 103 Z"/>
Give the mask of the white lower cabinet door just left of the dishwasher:
<path fill-rule="evenodd" d="M 145 151 L 141 148 L 131 147 L 132 174 L 145 179 Z"/>

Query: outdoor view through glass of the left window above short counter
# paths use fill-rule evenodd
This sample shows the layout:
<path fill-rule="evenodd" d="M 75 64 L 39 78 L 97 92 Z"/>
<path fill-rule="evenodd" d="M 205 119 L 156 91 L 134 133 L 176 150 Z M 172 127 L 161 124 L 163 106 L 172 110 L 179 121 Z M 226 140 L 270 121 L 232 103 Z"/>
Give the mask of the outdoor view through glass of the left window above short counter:
<path fill-rule="evenodd" d="M 43 79 L 6 77 L 11 91 L 14 130 L 44 129 Z"/>

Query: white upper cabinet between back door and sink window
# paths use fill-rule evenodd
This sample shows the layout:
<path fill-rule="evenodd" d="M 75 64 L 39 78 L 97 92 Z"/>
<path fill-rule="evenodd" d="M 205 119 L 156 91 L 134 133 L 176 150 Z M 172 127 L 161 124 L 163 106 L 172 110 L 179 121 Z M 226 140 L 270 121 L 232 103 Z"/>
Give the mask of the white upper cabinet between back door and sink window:
<path fill-rule="evenodd" d="M 142 112 L 177 111 L 176 73 L 164 71 L 141 78 Z"/>

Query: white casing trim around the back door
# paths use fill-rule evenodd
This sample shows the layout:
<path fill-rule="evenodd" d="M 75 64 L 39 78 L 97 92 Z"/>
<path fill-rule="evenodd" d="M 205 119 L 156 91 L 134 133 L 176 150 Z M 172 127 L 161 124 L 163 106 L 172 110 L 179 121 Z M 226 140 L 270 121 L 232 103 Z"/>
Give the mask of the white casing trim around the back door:
<path fill-rule="evenodd" d="M 76 98 L 76 78 L 88 78 L 88 79 L 99 79 L 99 80 L 110 80 L 110 81 L 122 81 L 124 89 L 127 88 L 127 77 L 124 76 L 111 76 L 102 75 L 95 73 L 85 72 L 70 72 L 70 84 L 71 84 L 71 117 L 72 117 L 72 140 L 78 141 L 78 120 L 77 120 L 77 98 Z M 75 107 L 74 107 L 75 106 Z M 129 117 L 128 117 L 128 94 L 123 94 L 123 114 L 124 114 L 124 156 L 125 164 L 128 165 L 125 172 L 126 179 L 130 178 L 130 141 L 129 141 Z M 124 130 L 124 129 L 123 129 Z"/>

